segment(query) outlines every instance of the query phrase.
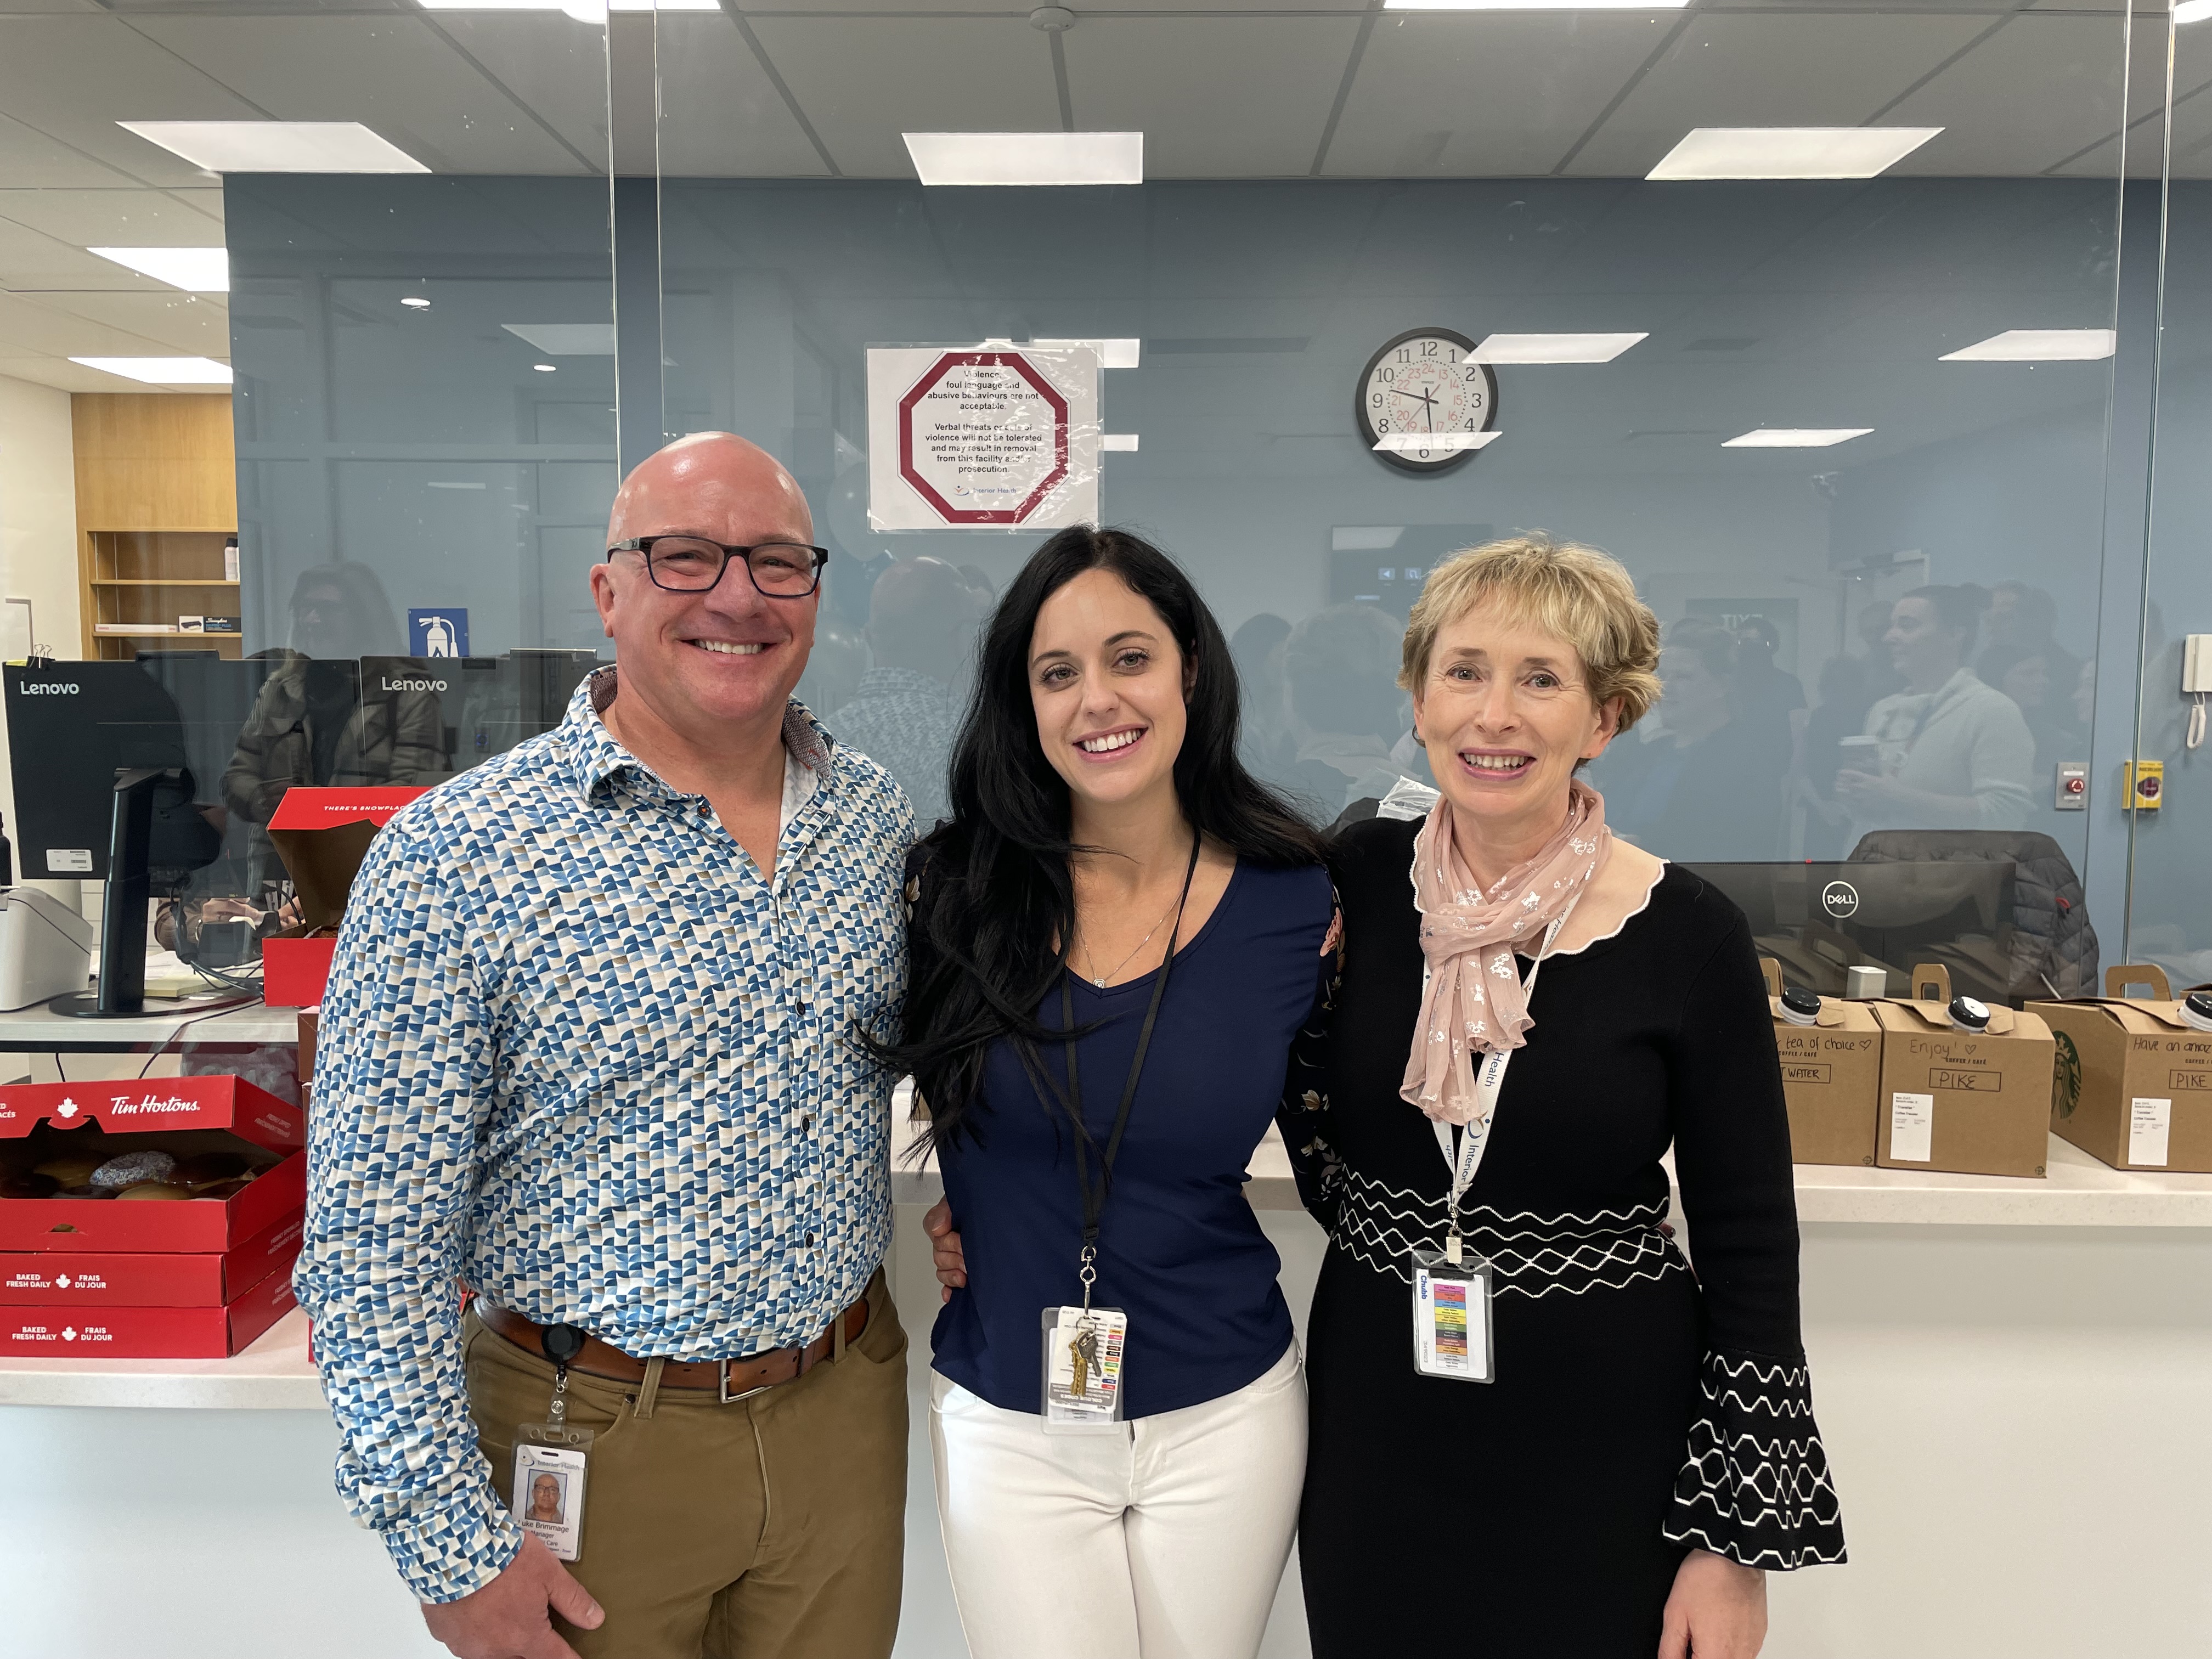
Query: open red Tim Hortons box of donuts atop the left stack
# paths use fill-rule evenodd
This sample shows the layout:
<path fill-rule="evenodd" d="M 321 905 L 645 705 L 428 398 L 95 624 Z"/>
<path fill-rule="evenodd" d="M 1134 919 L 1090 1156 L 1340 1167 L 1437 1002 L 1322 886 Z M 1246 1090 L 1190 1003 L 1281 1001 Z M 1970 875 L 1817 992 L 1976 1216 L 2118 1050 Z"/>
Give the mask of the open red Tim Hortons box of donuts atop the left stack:
<path fill-rule="evenodd" d="M 307 1119 L 243 1077 L 0 1088 L 0 1250 L 223 1254 L 307 1203 Z"/>

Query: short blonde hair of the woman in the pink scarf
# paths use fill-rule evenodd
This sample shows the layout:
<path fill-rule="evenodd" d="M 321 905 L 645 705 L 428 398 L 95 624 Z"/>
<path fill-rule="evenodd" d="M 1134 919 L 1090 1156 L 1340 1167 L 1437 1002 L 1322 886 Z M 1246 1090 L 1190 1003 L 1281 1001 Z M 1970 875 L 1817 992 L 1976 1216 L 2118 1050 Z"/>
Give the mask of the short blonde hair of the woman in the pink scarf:
<path fill-rule="evenodd" d="M 1621 699 L 1619 730 L 1659 701 L 1659 617 L 1637 597 L 1635 580 L 1610 553 L 1544 531 L 1471 546 L 1429 571 L 1405 626 L 1398 686 L 1420 692 L 1436 635 L 1489 597 L 1575 648 L 1590 701 L 1604 708 Z"/>

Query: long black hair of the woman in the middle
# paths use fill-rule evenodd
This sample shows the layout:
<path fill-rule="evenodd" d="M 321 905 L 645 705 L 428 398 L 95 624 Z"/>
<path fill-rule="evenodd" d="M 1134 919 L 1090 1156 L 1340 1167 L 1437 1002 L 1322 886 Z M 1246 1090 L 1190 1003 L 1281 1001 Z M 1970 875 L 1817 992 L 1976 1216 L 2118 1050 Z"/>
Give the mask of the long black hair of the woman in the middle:
<path fill-rule="evenodd" d="M 1042 1079 L 1037 1004 L 1068 960 L 1075 883 L 1068 785 L 1044 759 L 1029 646 L 1044 602 L 1084 571 L 1113 571 L 1168 624 L 1183 655 L 1188 728 L 1175 757 L 1183 816 L 1241 860 L 1316 865 L 1321 836 L 1237 759 L 1237 666 L 1190 577 L 1150 542 L 1075 526 L 1040 546 L 982 635 L 975 690 L 951 759 L 953 818 L 918 849 L 905 1040 L 878 1051 L 914 1073 L 931 1139 L 956 1139 L 982 1102 L 984 1055 L 1011 1037 Z"/>

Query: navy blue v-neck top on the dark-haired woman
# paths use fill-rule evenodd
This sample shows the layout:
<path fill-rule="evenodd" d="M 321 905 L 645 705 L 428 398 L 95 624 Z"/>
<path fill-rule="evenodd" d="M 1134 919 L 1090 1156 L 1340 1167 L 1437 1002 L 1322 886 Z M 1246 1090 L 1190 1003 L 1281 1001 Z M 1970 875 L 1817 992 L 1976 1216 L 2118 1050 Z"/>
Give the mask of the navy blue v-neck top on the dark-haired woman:
<path fill-rule="evenodd" d="M 1281 1104 L 1290 1040 L 1314 1011 L 1329 914 L 1321 867 L 1239 863 L 1175 958 L 1099 1221 L 1093 1301 L 1128 1312 L 1130 1418 L 1234 1394 L 1290 1347 L 1281 1261 L 1243 1179 Z M 1155 978 L 1104 991 L 1075 980 L 1075 1026 L 1104 1022 L 1077 1040 L 1097 1146 L 1113 1133 Z M 1062 1024 L 1057 987 L 1037 1020 Z M 1066 1046 L 1046 1046 L 1042 1062 L 1064 1088 Z M 931 1363 L 995 1407 L 1037 1411 L 1040 1314 L 1082 1301 L 1075 1133 L 1006 1042 L 984 1062 L 982 1106 L 973 1133 L 940 1155 L 967 1287 L 938 1314 Z"/>

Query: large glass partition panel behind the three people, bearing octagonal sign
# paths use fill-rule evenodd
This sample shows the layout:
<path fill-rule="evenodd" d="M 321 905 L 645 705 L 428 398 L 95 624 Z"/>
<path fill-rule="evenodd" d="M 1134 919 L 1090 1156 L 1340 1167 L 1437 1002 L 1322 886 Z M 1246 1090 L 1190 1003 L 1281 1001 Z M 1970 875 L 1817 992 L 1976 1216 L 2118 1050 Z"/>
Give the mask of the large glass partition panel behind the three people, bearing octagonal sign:
<path fill-rule="evenodd" d="M 2108 759 L 2117 135 L 2157 111 L 2124 11 L 657 31 L 666 425 L 757 438 L 814 500 L 832 730 L 956 703 L 973 624 L 907 630 L 911 595 L 980 615 L 1060 522 L 925 502 L 885 445 L 920 442 L 936 358 L 898 352 L 1091 343 L 1079 515 L 1199 577 L 1248 754 L 1316 821 L 1425 776 L 1391 684 L 1422 575 L 1544 529 L 1617 553 L 1666 630 L 1666 699 L 1593 768 L 1624 834 L 2088 872 L 2062 768 Z M 1137 181 L 960 184 L 991 168 Z M 900 754 L 922 799 L 940 757 Z M 1969 956 L 2046 993 L 2008 927 Z"/>

